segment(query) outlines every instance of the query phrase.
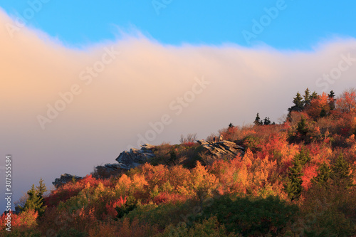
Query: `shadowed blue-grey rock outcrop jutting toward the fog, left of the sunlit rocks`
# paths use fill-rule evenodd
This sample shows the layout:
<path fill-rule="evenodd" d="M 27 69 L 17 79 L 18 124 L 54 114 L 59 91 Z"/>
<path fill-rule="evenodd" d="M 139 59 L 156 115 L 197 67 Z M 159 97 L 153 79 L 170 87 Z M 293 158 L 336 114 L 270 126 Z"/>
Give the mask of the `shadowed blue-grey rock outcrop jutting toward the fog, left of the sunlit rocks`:
<path fill-rule="evenodd" d="M 110 177 L 110 175 L 117 174 L 121 170 L 129 170 L 147 162 L 149 159 L 155 157 L 152 152 L 155 146 L 151 144 L 141 145 L 141 149 L 131 148 L 130 151 L 121 152 L 119 157 L 116 158 L 117 164 L 105 164 L 98 166 L 98 174 L 101 177 Z"/>

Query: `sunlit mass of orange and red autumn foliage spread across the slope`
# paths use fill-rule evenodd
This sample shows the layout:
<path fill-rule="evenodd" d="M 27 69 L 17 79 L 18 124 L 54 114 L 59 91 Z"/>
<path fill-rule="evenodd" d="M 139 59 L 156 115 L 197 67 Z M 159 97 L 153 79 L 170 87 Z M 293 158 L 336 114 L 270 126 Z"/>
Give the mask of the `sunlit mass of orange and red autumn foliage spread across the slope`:
<path fill-rule="evenodd" d="M 182 165 L 168 167 L 162 164 L 142 164 L 119 178 L 106 180 L 98 180 L 89 175 L 51 191 L 45 199 L 48 208 L 41 217 L 41 222 L 36 221 L 38 214 L 30 210 L 19 215 L 12 214 L 12 226 L 23 231 L 38 228 L 43 233 L 49 229 L 56 232 L 75 228 L 89 236 L 155 236 L 162 229 L 158 230 L 156 226 L 147 224 L 152 223 L 152 220 L 140 223 L 135 215 L 141 215 L 142 211 L 152 210 L 161 204 L 176 204 L 188 199 L 201 200 L 216 194 L 263 197 L 273 195 L 288 199 L 284 188 L 288 167 L 292 165 L 293 157 L 300 152 L 301 147 L 310 152 L 310 160 L 302 165 L 301 177 L 303 195 L 310 194 L 313 191 L 313 188 L 310 189 L 311 180 L 317 176 L 320 164 L 333 164 L 340 152 L 352 164 L 352 174 L 355 174 L 355 109 L 355 92 L 344 93 L 337 100 L 336 112 L 330 112 L 330 98 L 323 93 L 311 100 L 303 112 L 291 112 L 290 119 L 283 125 L 230 127 L 223 130 L 221 134 L 224 139 L 234 140 L 239 144 L 247 140 L 253 144 L 253 152 L 246 149 L 242 158 L 216 159 L 206 167 L 197 162 L 193 169 Z M 323 115 L 322 112 L 330 116 L 315 120 Z M 294 135 L 302 116 L 308 120 L 313 140 L 308 144 L 300 141 L 292 143 L 290 136 Z M 246 139 L 247 136 L 251 137 Z M 195 145 L 196 143 L 186 143 L 184 149 L 196 152 Z M 169 144 L 165 146 L 167 152 L 174 149 Z M 175 151 L 179 152 L 177 148 Z M 353 179 L 356 183 L 356 174 Z M 127 199 L 137 202 L 137 209 L 127 215 L 131 219 L 114 221 L 117 216 L 115 207 L 127 204 Z M 298 204 L 303 206 L 305 200 L 307 199 L 299 199 Z M 63 203 L 59 204 L 61 201 Z M 151 206 L 146 209 L 146 204 Z M 163 213 L 164 211 L 159 212 Z M 3 215 L 0 218 L 3 226 L 4 221 Z"/>

